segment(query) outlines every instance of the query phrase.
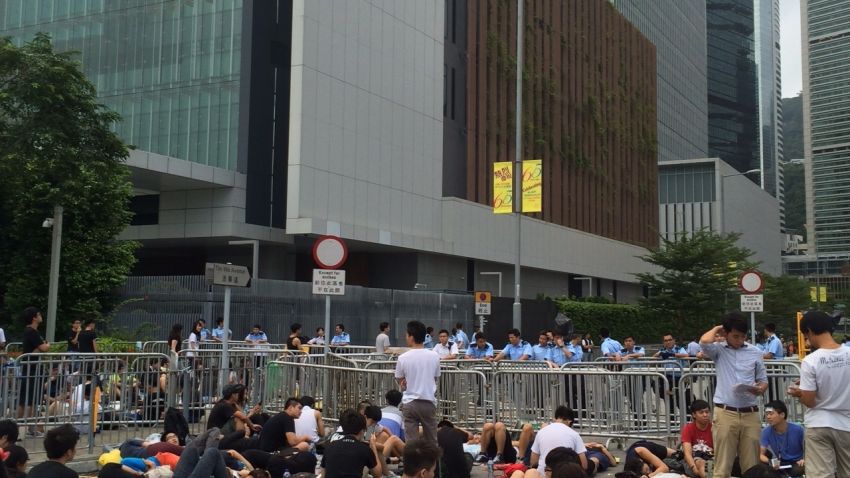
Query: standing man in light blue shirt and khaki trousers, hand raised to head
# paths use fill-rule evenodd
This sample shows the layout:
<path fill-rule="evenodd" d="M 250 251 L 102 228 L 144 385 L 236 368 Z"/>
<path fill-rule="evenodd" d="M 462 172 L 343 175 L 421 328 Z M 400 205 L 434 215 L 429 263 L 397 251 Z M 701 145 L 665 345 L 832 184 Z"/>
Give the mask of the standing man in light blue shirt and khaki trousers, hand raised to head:
<path fill-rule="evenodd" d="M 717 387 L 714 390 L 714 476 L 732 473 L 737 455 L 741 470 L 759 462 L 761 420 L 757 396 L 767 390 L 767 371 L 762 353 L 748 344 L 747 320 L 740 312 L 730 312 L 718 325 L 700 337 L 702 352 L 714 361 Z M 715 335 L 725 340 L 715 342 Z"/>

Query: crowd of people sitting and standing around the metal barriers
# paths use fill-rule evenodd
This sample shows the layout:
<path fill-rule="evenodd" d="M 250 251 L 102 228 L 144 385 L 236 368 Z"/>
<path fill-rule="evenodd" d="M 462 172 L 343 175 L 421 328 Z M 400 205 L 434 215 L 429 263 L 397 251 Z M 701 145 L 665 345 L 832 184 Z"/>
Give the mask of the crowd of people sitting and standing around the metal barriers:
<path fill-rule="evenodd" d="M 43 349 L 46 343 L 37 330 L 41 314 L 27 309 L 24 320 L 25 348 L 31 352 Z M 287 346 L 298 348 L 313 340 L 302 342 L 300 329 L 300 325 L 293 325 Z M 691 419 L 681 430 L 680 445 L 668 448 L 651 440 L 637 440 L 626 450 L 623 470 L 617 476 L 850 476 L 850 451 L 846 447 L 850 443 L 850 389 L 846 387 L 850 383 L 850 348 L 834 340 L 833 329 L 833 320 L 827 314 L 805 314 L 801 331 L 813 352 L 801 363 L 799 382 L 786 391 L 785 397 L 771 397 L 763 408 L 759 397 L 768 388 L 764 361 L 784 356 L 772 324 L 765 327 L 763 346 L 747 341 L 749 326 L 739 313 L 727 314 L 721 325 L 693 341 L 696 347 L 693 342 L 678 345 L 671 334 L 663 336 L 661 349 L 653 354 L 656 358 L 697 357 L 714 362 L 713 405 L 699 399 L 682 404 L 688 406 Z M 189 343 L 216 337 L 216 329 L 206 335 L 203 331 L 204 324 L 196 323 Z M 175 352 L 182 346 L 180 332 L 175 327 L 169 338 Z M 376 348 L 380 345 L 384 353 L 394 352 L 389 332 L 389 324 L 382 323 L 376 337 Z M 218 332 L 218 336 L 223 333 Z M 435 405 L 441 360 L 536 360 L 559 366 L 586 358 L 588 348 L 594 347 L 587 336 L 565 336 L 560 329 L 541 331 L 532 346 L 522 340 L 519 330 L 511 329 L 506 345 L 496 352 L 481 331 L 467 338 L 462 324 L 451 333 L 438 331 L 437 341 L 429 344 L 432 333 L 422 322 L 407 324 L 405 347 L 397 350 L 403 350 L 395 366 L 398 389 L 385 391 L 383 407 L 363 402 L 358 409 L 346 410 L 338 417 L 324 417 L 314 408 L 311 397 L 302 396 L 289 398 L 280 413 L 269 415 L 261 406 L 247 406 L 244 384 L 229 384 L 209 410 L 204 434 L 190 438 L 166 430 L 146 440 L 129 440 L 117 449 L 117 461 L 101 469 L 101 476 L 154 476 L 152 470 L 164 467 L 168 470 L 156 476 L 277 478 L 318 471 L 329 478 L 353 478 L 368 470 L 375 478 L 394 477 L 398 472 L 430 478 L 442 463 L 444 476 L 466 478 L 470 476 L 470 461 L 474 461 L 503 469 L 511 478 L 569 478 L 593 476 L 618 466 L 602 444 L 585 441 L 573 429 L 577 413 L 569 404 L 555 407 L 551 421 L 539 429 L 532 424 L 509 430 L 501 422 L 482 423 L 480 434 L 454 426 L 450 417 L 439 416 Z M 75 324 L 72 334 L 84 353 L 96 353 L 93 324 Z M 317 331 L 315 338 L 323 336 Z M 621 344 L 603 328 L 600 339 L 600 354 L 609 360 L 633 361 L 647 356 L 633 337 L 624 337 Z M 343 346 L 350 340 L 338 324 L 331 343 Z M 256 326 L 246 341 L 261 346 L 268 338 Z M 24 389 L 27 386 L 25 380 Z M 799 404 L 806 407 L 805 422 L 789 422 L 789 406 Z M 20 403 L 19 416 L 26 416 L 27 407 L 34 405 Z M 325 430 L 327 418 L 337 421 L 335 430 Z M 764 427 L 762 418 L 767 424 Z M 16 444 L 18 436 L 14 421 L 0 421 L 2 472 L 9 476 L 27 474 L 28 453 Z M 47 430 L 44 451 L 48 460 L 28 474 L 35 478 L 76 476 L 65 464 L 73 459 L 78 439 L 79 431 L 71 425 Z M 399 463 L 402 465 L 393 469 Z"/>

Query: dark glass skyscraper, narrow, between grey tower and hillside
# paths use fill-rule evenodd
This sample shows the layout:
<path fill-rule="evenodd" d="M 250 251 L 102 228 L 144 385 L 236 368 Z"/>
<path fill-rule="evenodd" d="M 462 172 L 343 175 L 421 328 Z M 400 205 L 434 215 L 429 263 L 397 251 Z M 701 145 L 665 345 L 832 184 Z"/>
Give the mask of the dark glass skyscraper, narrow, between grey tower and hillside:
<path fill-rule="evenodd" d="M 705 5 L 709 156 L 740 172 L 761 169 L 753 0 Z"/>

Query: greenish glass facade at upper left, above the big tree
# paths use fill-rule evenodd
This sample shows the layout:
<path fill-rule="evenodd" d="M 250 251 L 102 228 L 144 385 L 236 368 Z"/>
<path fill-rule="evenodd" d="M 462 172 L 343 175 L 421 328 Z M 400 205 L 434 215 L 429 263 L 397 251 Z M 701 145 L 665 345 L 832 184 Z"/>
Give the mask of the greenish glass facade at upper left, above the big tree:
<path fill-rule="evenodd" d="M 136 148 L 236 169 L 242 0 L 0 0 L 0 31 L 79 52 Z"/>

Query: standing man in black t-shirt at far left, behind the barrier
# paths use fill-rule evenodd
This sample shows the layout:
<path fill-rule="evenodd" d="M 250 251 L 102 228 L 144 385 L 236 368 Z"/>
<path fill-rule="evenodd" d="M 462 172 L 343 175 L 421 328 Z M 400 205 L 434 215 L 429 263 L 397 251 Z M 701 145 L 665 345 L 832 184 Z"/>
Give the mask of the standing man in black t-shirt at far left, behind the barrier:
<path fill-rule="evenodd" d="M 26 328 L 22 344 L 24 356 L 20 359 L 21 389 L 18 393 L 18 418 L 34 416 L 33 407 L 39 404 L 42 398 L 42 381 L 38 378 L 40 375 L 38 357 L 27 354 L 38 354 L 50 350 L 50 344 L 45 342 L 38 333 L 38 326 L 44 320 L 41 317 L 41 311 L 35 307 L 27 307 L 21 314 L 21 320 Z M 31 433 L 34 431 L 30 430 Z"/>

